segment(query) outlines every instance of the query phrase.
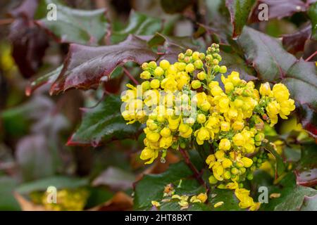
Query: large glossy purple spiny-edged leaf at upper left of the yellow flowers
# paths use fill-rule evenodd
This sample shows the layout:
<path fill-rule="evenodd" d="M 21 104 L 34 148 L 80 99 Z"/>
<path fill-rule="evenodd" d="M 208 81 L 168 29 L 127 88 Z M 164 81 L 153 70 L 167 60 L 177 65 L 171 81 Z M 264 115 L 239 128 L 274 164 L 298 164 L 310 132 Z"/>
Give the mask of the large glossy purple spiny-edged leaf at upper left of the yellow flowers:
<path fill-rule="evenodd" d="M 63 70 L 51 86 L 51 94 L 58 94 L 70 88 L 94 88 L 101 77 L 110 76 L 120 64 L 128 61 L 142 64 L 155 59 L 156 53 L 149 49 L 147 42 L 133 35 L 111 46 L 70 44 Z"/>

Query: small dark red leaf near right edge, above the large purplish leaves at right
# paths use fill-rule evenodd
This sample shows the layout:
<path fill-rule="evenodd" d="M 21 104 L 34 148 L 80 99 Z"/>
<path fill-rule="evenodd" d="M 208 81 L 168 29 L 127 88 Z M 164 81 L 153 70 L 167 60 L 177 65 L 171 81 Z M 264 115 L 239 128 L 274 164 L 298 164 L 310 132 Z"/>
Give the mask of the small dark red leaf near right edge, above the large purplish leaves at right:
<path fill-rule="evenodd" d="M 304 51 L 305 42 L 311 37 L 311 25 L 304 26 L 298 32 L 293 34 L 285 34 L 282 36 L 282 44 L 290 53 Z"/>

